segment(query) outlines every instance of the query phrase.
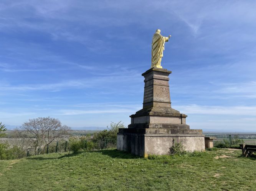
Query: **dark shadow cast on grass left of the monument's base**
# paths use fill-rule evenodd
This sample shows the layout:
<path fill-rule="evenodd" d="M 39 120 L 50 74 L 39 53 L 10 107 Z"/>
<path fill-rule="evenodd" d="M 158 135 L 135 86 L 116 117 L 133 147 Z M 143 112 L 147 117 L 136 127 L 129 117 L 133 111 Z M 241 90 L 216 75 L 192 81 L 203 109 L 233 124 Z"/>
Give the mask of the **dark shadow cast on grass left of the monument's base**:
<path fill-rule="evenodd" d="M 104 155 L 108 155 L 112 158 L 116 159 L 139 159 L 141 157 L 132 155 L 130 153 L 124 152 L 124 151 L 118 151 L 117 149 L 104 149 L 104 150 L 98 150 L 98 151 L 89 151 L 89 152 L 98 152 Z"/>

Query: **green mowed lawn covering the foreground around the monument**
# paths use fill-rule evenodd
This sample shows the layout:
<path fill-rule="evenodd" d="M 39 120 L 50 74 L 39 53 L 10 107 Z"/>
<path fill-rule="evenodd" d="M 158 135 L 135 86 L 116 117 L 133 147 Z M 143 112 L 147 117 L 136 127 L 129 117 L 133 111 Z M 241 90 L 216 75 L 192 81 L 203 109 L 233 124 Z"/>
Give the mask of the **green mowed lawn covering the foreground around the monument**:
<path fill-rule="evenodd" d="M 0 161 L 0 190 L 256 190 L 241 150 L 143 159 L 116 149 Z"/>

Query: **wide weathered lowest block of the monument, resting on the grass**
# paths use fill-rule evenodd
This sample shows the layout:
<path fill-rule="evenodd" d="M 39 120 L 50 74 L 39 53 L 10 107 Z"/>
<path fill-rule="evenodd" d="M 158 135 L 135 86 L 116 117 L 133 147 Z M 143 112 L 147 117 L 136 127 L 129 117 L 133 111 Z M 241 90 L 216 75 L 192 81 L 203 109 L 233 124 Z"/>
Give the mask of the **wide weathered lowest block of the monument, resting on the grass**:
<path fill-rule="evenodd" d="M 205 151 L 205 137 L 201 134 L 138 134 L 118 133 L 117 150 L 141 157 L 149 154 L 168 155 L 173 140 L 180 142 L 185 151 Z"/>

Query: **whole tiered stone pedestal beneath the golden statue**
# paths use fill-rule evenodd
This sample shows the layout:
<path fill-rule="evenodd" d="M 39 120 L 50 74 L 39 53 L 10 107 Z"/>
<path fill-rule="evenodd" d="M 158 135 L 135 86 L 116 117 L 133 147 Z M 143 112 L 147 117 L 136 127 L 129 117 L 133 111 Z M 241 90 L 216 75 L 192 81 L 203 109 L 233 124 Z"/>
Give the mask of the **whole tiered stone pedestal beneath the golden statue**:
<path fill-rule="evenodd" d="M 131 124 L 117 133 L 117 150 L 147 157 L 168 154 L 173 140 L 186 151 L 205 151 L 202 130 L 190 129 L 187 115 L 171 107 L 167 69 L 150 68 L 145 80 L 143 108 L 130 115 Z"/>

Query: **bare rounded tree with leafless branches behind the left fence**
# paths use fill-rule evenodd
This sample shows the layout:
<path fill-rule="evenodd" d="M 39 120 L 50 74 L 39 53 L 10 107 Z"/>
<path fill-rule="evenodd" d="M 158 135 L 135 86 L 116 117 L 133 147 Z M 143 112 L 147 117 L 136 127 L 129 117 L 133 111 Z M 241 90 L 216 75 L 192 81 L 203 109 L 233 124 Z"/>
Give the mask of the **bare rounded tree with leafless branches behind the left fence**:
<path fill-rule="evenodd" d="M 51 117 L 38 117 L 23 123 L 21 129 L 33 135 L 35 154 L 40 154 L 55 139 L 68 134 L 70 127 L 61 125 L 58 119 Z"/>

